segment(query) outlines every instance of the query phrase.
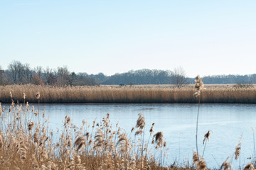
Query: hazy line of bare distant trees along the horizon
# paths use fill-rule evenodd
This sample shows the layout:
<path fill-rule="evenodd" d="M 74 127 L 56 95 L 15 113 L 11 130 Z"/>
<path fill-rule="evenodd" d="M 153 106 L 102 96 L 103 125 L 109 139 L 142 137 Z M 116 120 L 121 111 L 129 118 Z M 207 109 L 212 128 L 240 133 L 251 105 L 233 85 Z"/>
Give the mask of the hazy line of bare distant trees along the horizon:
<path fill-rule="evenodd" d="M 204 84 L 255 84 L 256 74 L 250 75 L 215 75 L 203 77 Z M 100 84 L 193 84 L 193 77 L 186 77 L 182 67 L 174 70 L 159 69 L 139 69 L 131 70 L 122 74 L 106 76 L 103 73 L 87 74 L 70 72 L 68 67 L 58 67 L 51 69 L 41 66 L 31 68 L 29 64 L 22 64 L 14 61 L 8 69 L 1 69 L 0 66 L 0 85 L 8 84 L 37 84 L 52 86 L 95 86 Z"/>

